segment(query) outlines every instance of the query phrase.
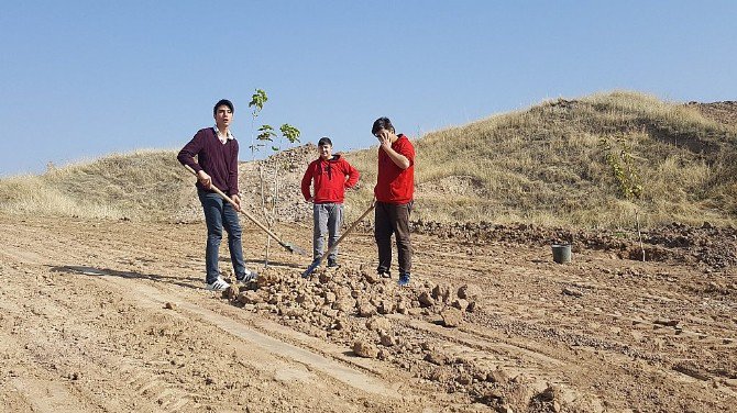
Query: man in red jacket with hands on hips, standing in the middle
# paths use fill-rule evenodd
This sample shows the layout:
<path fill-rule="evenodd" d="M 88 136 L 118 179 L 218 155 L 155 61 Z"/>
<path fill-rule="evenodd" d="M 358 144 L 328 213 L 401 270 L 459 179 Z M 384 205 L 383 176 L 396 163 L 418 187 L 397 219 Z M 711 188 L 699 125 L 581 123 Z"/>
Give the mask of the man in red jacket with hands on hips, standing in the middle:
<path fill-rule="evenodd" d="M 353 188 L 359 181 L 359 170 L 341 157 L 332 155 L 332 142 L 322 137 L 317 144 L 320 157 L 312 160 L 302 177 L 301 190 L 307 202 L 312 202 L 312 257 L 320 259 L 328 234 L 328 248 L 340 237 L 343 222 L 343 198 L 345 188 Z M 315 182 L 315 194 L 310 193 L 310 182 Z M 338 267 L 338 248 L 330 253 L 328 267 Z"/>

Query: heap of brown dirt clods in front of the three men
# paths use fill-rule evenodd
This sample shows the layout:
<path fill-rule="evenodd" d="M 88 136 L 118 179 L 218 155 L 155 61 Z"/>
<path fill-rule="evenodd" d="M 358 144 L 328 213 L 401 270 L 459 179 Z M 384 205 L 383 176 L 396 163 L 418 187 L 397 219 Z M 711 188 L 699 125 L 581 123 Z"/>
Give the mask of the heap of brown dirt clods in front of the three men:
<path fill-rule="evenodd" d="M 444 392 L 465 393 L 499 411 L 527 404 L 541 411 L 553 405 L 595 410 L 594 399 L 578 395 L 568 404 L 561 395 L 566 390 L 464 355 L 448 347 L 442 336 L 414 326 L 416 321 L 430 321 L 452 331 L 480 311 L 480 297 L 481 289 L 473 284 L 426 280 L 400 288 L 396 280 L 362 268 L 324 269 L 310 279 L 266 269 L 248 287 L 223 292 L 237 306 L 352 348 L 355 357 L 391 362 Z"/>

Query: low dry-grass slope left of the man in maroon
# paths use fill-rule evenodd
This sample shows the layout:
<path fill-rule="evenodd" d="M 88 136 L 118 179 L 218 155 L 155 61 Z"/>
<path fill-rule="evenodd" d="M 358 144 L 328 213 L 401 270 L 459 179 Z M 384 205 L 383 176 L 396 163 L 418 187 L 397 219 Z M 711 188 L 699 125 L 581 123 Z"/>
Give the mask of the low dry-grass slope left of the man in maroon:
<path fill-rule="evenodd" d="M 158 220 L 191 182 L 172 150 L 138 150 L 0 180 L 4 213 Z M 191 180 L 191 179 L 190 179 Z"/>

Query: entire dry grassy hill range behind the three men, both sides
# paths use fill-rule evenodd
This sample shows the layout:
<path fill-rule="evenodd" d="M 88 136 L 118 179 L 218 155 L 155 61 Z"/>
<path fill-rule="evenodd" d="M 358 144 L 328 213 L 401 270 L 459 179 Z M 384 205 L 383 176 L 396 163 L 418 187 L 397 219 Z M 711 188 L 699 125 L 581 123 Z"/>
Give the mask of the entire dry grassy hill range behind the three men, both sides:
<path fill-rule="evenodd" d="M 704 221 L 735 225 L 737 126 L 729 121 L 735 112 L 730 107 L 726 112 L 708 108 L 612 92 L 558 99 L 428 133 L 414 141 L 414 219 L 631 227 L 637 211 L 646 226 Z M 719 119 L 721 113 L 733 118 Z M 393 120 L 402 125 L 400 115 Z M 309 220 L 297 188 L 307 161 L 317 157 L 312 149 L 302 146 L 279 157 L 285 159 L 283 217 Z M 629 164 L 622 160 L 623 150 Z M 607 154 L 618 159 L 623 179 L 616 178 Z M 41 176 L 0 179 L 0 211 L 198 217 L 194 178 L 175 155 L 136 152 Z M 346 197 L 351 220 L 372 197 L 376 146 L 345 155 L 363 174 L 359 190 Z M 256 167 L 244 163 L 241 172 L 242 191 L 255 198 Z M 637 185 L 641 196 L 627 198 L 626 190 Z"/>

